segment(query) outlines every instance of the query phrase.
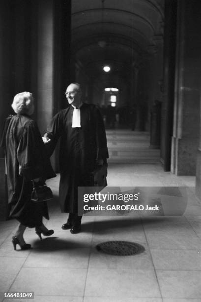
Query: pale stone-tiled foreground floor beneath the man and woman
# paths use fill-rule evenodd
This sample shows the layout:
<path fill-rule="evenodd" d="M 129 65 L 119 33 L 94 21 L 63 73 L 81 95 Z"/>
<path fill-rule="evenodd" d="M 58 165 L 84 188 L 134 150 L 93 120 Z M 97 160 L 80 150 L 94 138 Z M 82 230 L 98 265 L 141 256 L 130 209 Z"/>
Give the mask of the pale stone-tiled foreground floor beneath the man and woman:
<path fill-rule="evenodd" d="M 76 235 L 61 229 L 66 214 L 59 211 L 58 178 L 49 181 L 55 200 L 45 221 L 53 236 L 40 241 L 27 229 L 32 249 L 14 251 L 17 222 L 0 223 L 0 301 L 6 301 L 3 292 L 31 291 L 36 302 L 201 302 L 201 202 L 194 194 L 195 177 L 163 172 L 160 164 L 111 163 L 109 186 L 187 187 L 186 211 L 179 217 L 84 216 Z M 137 242 L 145 251 L 125 257 L 97 252 L 95 245 L 108 240 Z"/>

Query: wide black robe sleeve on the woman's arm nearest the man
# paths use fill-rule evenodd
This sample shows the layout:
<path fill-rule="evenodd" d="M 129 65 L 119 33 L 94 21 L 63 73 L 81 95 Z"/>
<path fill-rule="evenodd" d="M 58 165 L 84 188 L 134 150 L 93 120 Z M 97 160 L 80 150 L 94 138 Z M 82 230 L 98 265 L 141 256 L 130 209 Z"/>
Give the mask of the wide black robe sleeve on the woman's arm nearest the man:
<path fill-rule="evenodd" d="M 56 176 L 38 126 L 33 120 L 29 120 L 24 125 L 17 149 L 17 159 L 20 166 L 19 174 L 29 180 L 39 177 L 48 179 Z"/>

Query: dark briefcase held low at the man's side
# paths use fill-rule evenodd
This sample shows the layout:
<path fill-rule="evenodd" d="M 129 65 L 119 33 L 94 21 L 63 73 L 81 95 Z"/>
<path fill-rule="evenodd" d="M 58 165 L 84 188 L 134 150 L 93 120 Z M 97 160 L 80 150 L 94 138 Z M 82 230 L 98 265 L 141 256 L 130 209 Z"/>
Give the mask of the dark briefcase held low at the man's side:
<path fill-rule="evenodd" d="M 93 187 L 103 187 L 105 188 L 107 184 L 107 174 L 108 174 L 108 164 L 104 163 L 98 166 L 92 173 L 92 186 Z"/>

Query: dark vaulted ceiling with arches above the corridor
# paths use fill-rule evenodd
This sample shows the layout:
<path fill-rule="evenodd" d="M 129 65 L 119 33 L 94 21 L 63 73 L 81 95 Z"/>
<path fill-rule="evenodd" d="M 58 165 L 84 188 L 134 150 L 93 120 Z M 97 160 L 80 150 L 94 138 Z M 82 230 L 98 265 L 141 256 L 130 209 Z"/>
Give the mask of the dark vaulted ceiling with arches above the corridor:
<path fill-rule="evenodd" d="M 71 52 L 86 73 L 127 73 L 163 35 L 164 0 L 72 0 Z"/>

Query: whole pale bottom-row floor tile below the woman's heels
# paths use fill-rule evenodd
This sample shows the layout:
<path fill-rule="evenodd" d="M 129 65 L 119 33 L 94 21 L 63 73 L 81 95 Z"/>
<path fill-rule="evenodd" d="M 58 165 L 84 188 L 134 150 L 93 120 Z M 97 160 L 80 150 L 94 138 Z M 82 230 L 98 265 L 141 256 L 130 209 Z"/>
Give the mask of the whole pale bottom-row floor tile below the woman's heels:
<path fill-rule="evenodd" d="M 35 295 L 83 296 L 86 269 L 23 267 L 10 291 L 32 291 Z"/>

